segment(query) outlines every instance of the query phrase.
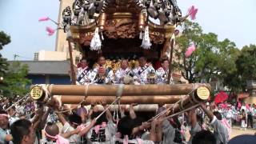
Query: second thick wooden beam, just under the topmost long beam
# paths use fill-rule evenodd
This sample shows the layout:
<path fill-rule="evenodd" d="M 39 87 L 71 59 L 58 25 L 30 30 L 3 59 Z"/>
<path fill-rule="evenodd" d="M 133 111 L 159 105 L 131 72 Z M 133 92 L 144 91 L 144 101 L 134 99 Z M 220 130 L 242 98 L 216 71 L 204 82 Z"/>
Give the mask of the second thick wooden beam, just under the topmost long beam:
<path fill-rule="evenodd" d="M 63 104 L 78 104 L 85 99 L 85 96 L 76 95 L 62 95 L 61 101 Z M 120 98 L 121 104 L 172 104 L 178 102 L 182 98 L 180 95 L 151 95 L 151 96 L 122 96 Z M 91 103 L 106 101 L 107 104 L 114 102 L 115 96 L 88 96 L 83 102 L 84 105 L 90 105 Z"/>

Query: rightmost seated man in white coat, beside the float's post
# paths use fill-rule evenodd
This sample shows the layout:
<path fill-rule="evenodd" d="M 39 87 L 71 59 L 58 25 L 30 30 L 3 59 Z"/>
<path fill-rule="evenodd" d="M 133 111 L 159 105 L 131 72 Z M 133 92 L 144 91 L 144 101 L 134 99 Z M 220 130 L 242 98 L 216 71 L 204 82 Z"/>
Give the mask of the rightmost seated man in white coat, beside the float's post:
<path fill-rule="evenodd" d="M 168 59 L 162 59 L 161 65 L 162 67 L 159 67 L 158 70 L 156 71 L 157 83 L 167 83 L 169 74 Z M 170 78 L 170 81 L 172 81 L 172 78 Z"/>

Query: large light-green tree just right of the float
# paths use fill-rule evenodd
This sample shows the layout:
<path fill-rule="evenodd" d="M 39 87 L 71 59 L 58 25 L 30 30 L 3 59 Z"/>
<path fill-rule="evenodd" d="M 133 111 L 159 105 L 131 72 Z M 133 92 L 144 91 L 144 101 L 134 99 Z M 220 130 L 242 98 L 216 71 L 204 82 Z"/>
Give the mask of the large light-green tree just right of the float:
<path fill-rule="evenodd" d="M 179 49 L 175 50 L 174 66 L 182 70 L 182 76 L 189 82 L 211 82 L 216 78 L 225 78 L 236 70 L 235 59 L 239 50 L 234 42 L 225 39 L 218 41 L 214 33 L 204 34 L 201 26 L 195 22 L 184 23 L 182 36 L 177 38 Z M 196 50 L 189 57 L 185 57 L 186 48 L 191 42 Z"/>

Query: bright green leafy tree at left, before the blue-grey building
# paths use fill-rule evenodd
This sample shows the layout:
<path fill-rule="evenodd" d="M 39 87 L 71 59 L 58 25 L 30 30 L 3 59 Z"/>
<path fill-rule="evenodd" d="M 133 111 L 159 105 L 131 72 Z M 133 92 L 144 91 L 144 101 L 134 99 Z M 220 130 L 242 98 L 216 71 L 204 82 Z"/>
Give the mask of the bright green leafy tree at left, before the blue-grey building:
<path fill-rule="evenodd" d="M 1 86 L 4 96 L 14 97 L 15 95 L 26 94 L 28 91 L 27 86 L 31 83 L 30 80 L 26 78 L 28 70 L 28 66 L 22 65 L 20 62 L 10 63 Z"/>

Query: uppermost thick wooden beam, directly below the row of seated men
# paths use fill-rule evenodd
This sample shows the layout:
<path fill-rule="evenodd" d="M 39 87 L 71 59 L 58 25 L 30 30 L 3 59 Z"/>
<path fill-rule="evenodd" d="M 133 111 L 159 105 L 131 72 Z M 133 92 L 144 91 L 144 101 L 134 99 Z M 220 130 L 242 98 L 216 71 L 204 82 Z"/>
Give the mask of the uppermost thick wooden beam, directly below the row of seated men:
<path fill-rule="evenodd" d="M 186 95 L 197 90 L 199 86 L 206 86 L 210 90 L 210 84 L 177 84 L 177 85 L 125 85 L 122 95 Z M 118 85 L 47 85 L 50 95 L 86 95 L 86 96 L 116 96 Z"/>

